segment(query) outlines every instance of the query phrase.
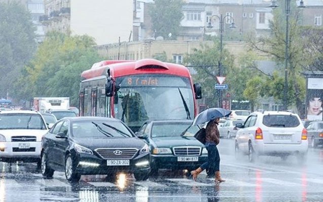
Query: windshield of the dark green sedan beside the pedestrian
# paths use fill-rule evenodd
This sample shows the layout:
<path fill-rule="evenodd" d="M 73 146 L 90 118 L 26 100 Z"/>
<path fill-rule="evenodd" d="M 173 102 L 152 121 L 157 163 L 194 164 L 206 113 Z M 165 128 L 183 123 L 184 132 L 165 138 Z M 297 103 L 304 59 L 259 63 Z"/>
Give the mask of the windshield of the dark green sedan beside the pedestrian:
<path fill-rule="evenodd" d="M 154 123 L 152 127 L 152 137 L 171 137 L 181 136 L 191 123 Z M 184 134 L 185 136 L 193 136 L 199 128 L 197 126 L 190 127 Z"/>

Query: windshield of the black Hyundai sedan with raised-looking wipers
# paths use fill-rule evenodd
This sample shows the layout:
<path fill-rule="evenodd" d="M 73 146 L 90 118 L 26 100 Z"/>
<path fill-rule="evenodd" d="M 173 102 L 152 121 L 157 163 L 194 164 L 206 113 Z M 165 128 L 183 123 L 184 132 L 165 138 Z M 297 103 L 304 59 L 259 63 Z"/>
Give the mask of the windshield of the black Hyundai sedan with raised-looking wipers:
<path fill-rule="evenodd" d="M 119 121 L 74 122 L 72 124 L 72 135 L 76 138 L 133 137 L 127 127 Z"/>

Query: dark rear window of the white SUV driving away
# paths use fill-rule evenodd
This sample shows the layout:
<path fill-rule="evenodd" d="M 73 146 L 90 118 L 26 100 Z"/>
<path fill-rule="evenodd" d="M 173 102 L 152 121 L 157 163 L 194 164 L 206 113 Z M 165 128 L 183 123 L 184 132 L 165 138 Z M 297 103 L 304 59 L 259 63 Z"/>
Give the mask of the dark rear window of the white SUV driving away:
<path fill-rule="evenodd" d="M 296 116 L 293 115 L 266 115 L 263 119 L 263 124 L 268 127 L 297 127 L 300 122 Z"/>

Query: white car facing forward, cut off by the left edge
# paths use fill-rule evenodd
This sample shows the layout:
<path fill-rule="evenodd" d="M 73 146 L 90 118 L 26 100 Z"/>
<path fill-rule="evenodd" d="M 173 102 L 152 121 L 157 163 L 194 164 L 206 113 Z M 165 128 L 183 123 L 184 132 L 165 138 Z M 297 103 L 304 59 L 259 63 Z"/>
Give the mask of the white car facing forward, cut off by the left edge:
<path fill-rule="evenodd" d="M 39 112 L 0 111 L 0 161 L 40 165 L 42 137 L 47 131 Z"/>

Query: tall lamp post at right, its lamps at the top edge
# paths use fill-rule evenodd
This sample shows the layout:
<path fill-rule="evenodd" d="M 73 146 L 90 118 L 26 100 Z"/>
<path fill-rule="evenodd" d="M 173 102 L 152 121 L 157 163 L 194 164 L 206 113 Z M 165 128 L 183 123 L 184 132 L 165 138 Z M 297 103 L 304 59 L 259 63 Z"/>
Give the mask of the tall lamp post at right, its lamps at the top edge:
<path fill-rule="evenodd" d="M 271 8 L 277 8 L 276 1 L 272 0 Z M 298 8 L 305 8 L 303 0 L 301 0 Z M 286 33 L 285 33 L 285 83 L 283 96 L 283 110 L 288 108 L 288 63 L 289 63 L 289 18 L 291 14 L 291 0 L 285 0 L 285 14 L 286 14 Z"/>

